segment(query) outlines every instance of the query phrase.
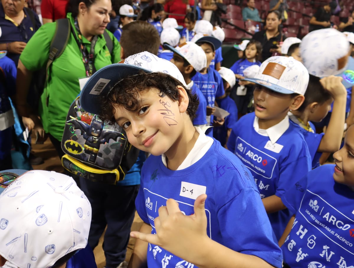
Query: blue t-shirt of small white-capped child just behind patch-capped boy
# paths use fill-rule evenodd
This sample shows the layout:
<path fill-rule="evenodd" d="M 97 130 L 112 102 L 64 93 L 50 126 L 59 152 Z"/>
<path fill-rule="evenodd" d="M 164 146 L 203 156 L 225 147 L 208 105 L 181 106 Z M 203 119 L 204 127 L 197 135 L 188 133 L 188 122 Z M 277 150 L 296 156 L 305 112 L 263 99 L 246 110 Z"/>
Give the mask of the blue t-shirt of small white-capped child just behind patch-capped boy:
<path fill-rule="evenodd" d="M 225 117 L 225 122 L 221 127 L 214 127 L 213 129 L 214 138 L 220 141 L 221 145 L 224 146 L 226 144 L 227 130 L 235 126 L 238 118 L 238 111 L 235 101 L 229 96 L 216 100 L 216 103 L 220 108 L 230 113 Z"/>

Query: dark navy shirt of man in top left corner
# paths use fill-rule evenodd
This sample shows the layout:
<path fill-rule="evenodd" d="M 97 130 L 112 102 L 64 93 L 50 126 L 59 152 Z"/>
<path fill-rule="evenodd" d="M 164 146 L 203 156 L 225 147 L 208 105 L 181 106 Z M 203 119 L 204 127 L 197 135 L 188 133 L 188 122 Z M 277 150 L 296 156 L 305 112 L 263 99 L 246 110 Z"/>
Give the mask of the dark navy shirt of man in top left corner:
<path fill-rule="evenodd" d="M 32 12 L 36 22 L 36 25 L 33 25 L 27 10 L 24 8 L 23 11 L 25 17 L 23 18 L 21 24 L 16 25 L 9 19 L 5 19 L 4 8 L 2 5 L 0 5 L 0 43 L 11 43 L 16 41 L 27 43 L 29 39 L 34 35 L 36 29 L 41 26 L 38 15 L 36 13 Z M 17 53 L 7 53 L 7 57 L 12 59 L 16 66 L 18 64 L 20 55 L 21 54 Z"/>

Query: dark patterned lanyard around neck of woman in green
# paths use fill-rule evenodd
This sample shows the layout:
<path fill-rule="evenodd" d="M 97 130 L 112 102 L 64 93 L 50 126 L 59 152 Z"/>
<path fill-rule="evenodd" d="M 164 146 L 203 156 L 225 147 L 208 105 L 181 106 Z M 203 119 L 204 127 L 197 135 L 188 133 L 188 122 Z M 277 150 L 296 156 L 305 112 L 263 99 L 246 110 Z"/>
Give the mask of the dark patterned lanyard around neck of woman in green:
<path fill-rule="evenodd" d="M 97 35 L 93 36 L 92 41 L 91 41 L 91 48 L 90 48 L 90 54 L 87 51 L 86 46 L 84 45 L 84 43 L 82 42 L 82 34 L 79 28 L 79 23 L 78 23 L 78 18 L 76 17 L 74 20 L 74 25 L 75 25 L 75 29 L 78 32 L 78 38 L 76 38 L 76 35 L 74 33 L 74 37 L 76 42 L 79 45 L 81 54 L 82 54 L 82 62 L 85 65 L 85 71 L 86 71 L 86 76 L 91 76 L 96 72 L 96 68 L 95 68 L 95 45 L 97 42 Z"/>

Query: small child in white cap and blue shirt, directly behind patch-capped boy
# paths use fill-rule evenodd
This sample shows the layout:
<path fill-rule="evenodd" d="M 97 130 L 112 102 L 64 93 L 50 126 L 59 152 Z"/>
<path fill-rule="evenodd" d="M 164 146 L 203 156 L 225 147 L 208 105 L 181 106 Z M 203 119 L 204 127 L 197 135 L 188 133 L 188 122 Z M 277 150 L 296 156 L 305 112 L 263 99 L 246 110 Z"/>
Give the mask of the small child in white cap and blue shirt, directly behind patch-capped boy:
<path fill-rule="evenodd" d="M 230 98 L 230 91 L 235 86 L 236 78 L 234 72 L 228 68 L 221 67 L 219 74 L 222 77 L 225 89 L 225 97 L 217 99 L 218 107 L 228 111 L 230 114 L 225 118 L 214 119 L 214 138 L 220 141 L 223 147 L 226 147 L 227 140 L 229 139 L 232 128 L 237 122 L 237 106 L 235 101 Z"/>

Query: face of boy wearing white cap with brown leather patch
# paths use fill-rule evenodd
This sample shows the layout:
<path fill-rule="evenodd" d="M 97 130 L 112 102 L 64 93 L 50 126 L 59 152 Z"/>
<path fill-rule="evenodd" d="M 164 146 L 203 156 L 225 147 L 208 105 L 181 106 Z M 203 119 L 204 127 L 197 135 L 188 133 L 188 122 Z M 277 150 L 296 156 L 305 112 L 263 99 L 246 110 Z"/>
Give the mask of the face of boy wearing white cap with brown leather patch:
<path fill-rule="evenodd" d="M 281 94 L 263 86 L 256 86 L 253 92 L 255 114 L 261 120 L 282 120 L 293 100 L 288 94 Z"/>

